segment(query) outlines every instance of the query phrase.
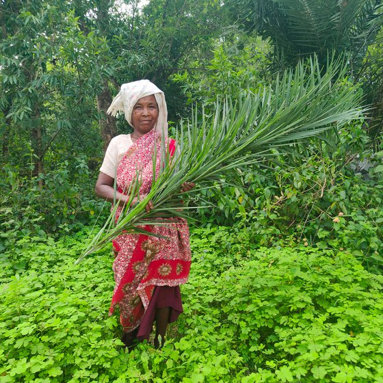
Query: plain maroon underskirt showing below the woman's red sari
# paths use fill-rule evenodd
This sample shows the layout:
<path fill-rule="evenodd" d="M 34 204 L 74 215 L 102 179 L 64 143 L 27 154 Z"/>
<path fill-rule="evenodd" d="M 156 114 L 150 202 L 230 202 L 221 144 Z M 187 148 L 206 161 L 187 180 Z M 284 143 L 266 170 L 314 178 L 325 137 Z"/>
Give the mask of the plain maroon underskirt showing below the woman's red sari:
<path fill-rule="evenodd" d="M 137 332 L 137 339 L 144 341 L 149 340 L 150 332 L 153 329 L 155 321 L 156 308 L 170 307 L 169 323 L 176 321 L 179 315 L 183 312 L 181 291 L 179 286 L 156 286 L 153 291 L 152 299 L 149 302 L 140 327 Z"/>

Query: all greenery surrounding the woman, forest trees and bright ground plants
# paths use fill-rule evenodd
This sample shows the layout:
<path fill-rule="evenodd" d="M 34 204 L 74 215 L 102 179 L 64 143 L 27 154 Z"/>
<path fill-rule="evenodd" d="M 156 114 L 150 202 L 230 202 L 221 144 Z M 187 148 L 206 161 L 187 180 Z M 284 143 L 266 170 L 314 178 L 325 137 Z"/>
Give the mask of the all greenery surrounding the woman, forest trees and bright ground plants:
<path fill-rule="evenodd" d="M 5 0 L 0 26 L 0 382 L 383 382 L 381 1 Z M 314 54 L 363 118 L 191 196 L 185 314 L 125 354 L 110 249 L 74 265 L 120 84 L 155 82 L 174 135 Z"/>

